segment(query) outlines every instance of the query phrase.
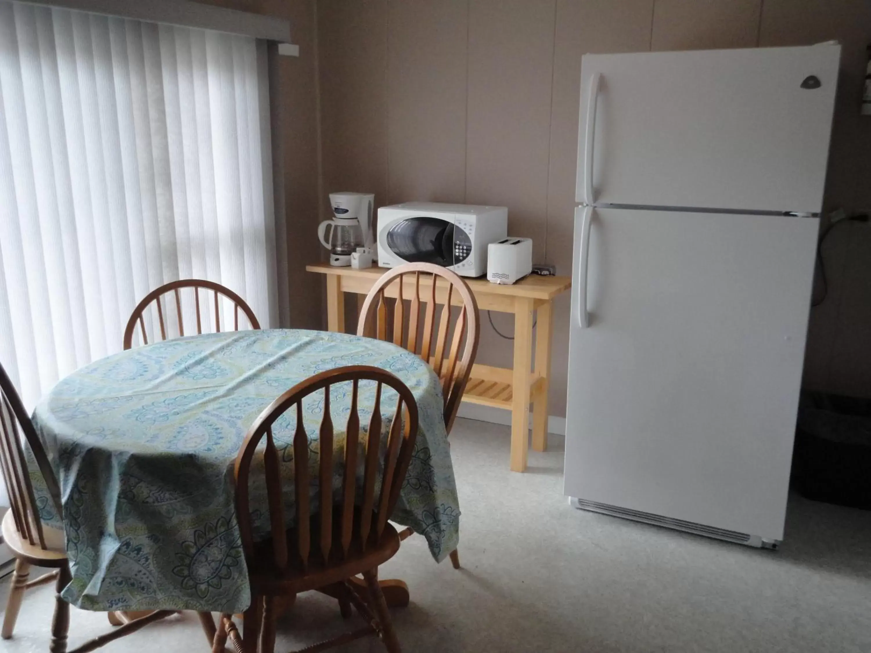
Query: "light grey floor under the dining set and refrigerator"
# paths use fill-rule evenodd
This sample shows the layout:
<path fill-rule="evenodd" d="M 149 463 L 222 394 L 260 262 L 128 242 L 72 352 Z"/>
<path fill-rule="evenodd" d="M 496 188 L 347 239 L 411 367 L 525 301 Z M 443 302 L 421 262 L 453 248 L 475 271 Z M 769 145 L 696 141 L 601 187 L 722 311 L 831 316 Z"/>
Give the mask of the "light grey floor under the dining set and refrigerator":
<path fill-rule="evenodd" d="M 394 612 L 403 650 L 871 651 L 871 513 L 793 496 L 783 548 L 748 549 L 571 508 L 561 438 L 530 452 L 523 475 L 508 471 L 508 427 L 458 420 L 451 441 L 464 569 L 436 565 L 420 537 L 382 569 L 411 589 L 411 605 Z M 47 587 L 25 597 L 0 651 L 48 650 L 52 598 Z M 102 614 L 74 610 L 71 621 L 71 646 L 106 628 Z M 300 596 L 276 651 L 349 625 L 326 597 Z M 184 615 L 103 650 L 208 647 Z M 363 640 L 337 650 L 383 649 Z"/>

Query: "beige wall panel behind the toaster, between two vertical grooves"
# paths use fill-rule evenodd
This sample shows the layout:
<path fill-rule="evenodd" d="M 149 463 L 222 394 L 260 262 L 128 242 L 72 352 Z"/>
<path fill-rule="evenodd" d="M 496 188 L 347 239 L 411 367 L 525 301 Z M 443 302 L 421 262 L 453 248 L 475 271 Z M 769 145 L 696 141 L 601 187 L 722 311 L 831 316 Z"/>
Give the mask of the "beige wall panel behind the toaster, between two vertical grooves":
<path fill-rule="evenodd" d="M 508 206 L 509 233 L 544 258 L 556 1 L 469 0 L 466 201 Z M 494 313 L 503 333 L 510 320 Z M 482 314 L 478 360 L 510 367 L 510 340 Z"/>

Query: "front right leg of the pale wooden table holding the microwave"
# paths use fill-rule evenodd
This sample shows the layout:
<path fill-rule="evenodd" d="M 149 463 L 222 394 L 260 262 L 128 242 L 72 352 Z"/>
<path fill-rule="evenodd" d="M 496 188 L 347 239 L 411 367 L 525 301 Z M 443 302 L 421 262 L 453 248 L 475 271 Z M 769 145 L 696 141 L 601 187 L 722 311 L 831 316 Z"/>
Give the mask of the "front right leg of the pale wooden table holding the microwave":
<path fill-rule="evenodd" d="M 532 363 L 532 303 L 514 301 L 514 372 L 511 380 L 511 471 L 526 469 L 530 441 L 530 366 Z"/>

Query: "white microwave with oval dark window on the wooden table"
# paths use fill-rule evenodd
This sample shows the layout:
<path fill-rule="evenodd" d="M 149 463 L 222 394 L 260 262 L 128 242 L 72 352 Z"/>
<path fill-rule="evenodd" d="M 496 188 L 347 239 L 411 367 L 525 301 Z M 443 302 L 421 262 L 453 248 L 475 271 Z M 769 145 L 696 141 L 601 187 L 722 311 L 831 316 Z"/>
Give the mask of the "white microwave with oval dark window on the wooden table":
<path fill-rule="evenodd" d="M 505 206 L 406 202 L 378 209 L 378 265 L 435 263 L 463 277 L 487 272 L 487 246 L 508 236 Z"/>

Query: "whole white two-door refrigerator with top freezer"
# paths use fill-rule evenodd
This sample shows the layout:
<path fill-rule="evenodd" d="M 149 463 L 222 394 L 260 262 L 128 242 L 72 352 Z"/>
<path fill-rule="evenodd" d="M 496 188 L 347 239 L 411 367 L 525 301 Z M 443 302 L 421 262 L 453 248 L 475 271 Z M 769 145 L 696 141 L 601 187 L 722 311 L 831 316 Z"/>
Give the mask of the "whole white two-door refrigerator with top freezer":
<path fill-rule="evenodd" d="M 782 540 L 840 54 L 584 56 L 575 507 Z"/>

